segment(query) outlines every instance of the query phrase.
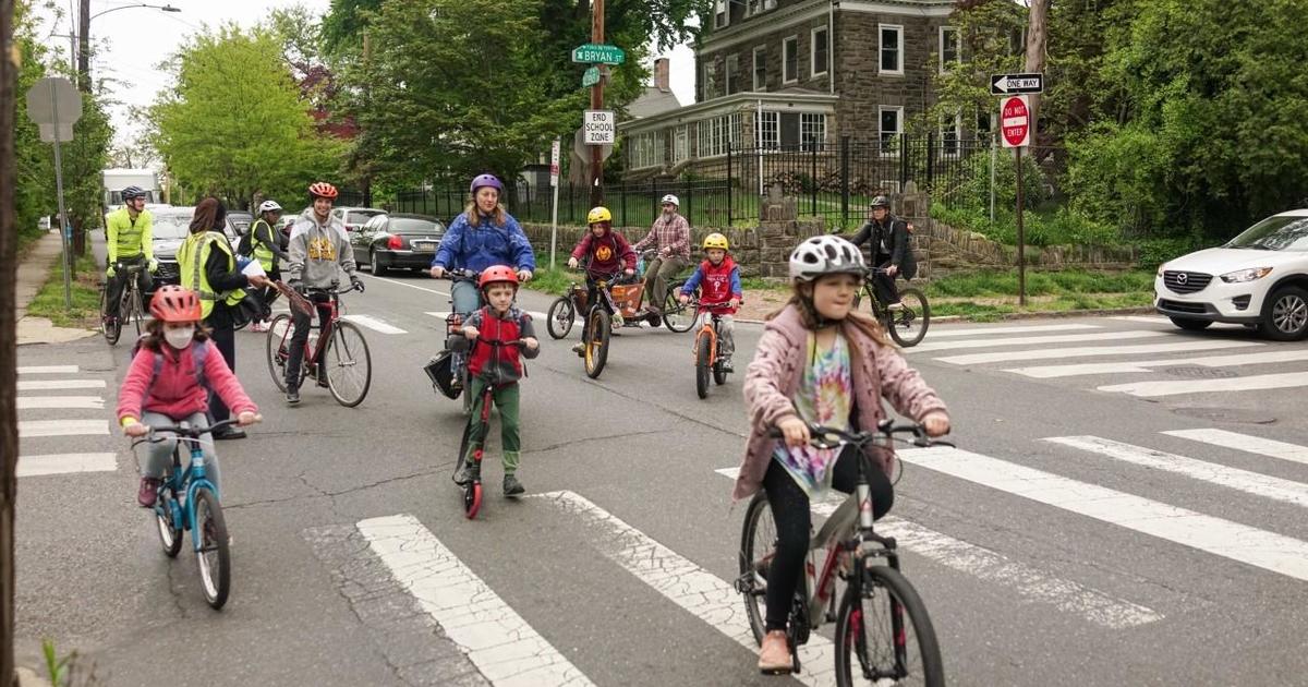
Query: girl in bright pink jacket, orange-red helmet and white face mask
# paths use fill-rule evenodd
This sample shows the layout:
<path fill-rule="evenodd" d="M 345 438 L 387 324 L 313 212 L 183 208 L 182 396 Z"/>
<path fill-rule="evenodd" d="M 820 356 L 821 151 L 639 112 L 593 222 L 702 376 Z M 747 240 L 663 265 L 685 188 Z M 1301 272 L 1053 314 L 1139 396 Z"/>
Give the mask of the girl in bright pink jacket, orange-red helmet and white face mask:
<path fill-rule="evenodd" d="M 154 319 L 140 342 L 132 365 L 118 391 L 118 423 L 129 437 L 144 437 L 150 425 L 174 425 L 187 421 L 192 427 L 208 425 L 212 387 L 218 398 L 237 414 L 237 424 L 258 421 L 259 408 L 250 400 L 237 376 L 200 327 L 200 298 L 195 292 L 167 285 L 150 300 Z M 204 434 L 205 472 L 218 484 L 218 461 L 213 438 Z M 136 501 L 153 508 L 158 497 L 160 478 L 173 457 L 175 438 L 150 444 L 150 454 L 141 468 L 141 487 Z"/>

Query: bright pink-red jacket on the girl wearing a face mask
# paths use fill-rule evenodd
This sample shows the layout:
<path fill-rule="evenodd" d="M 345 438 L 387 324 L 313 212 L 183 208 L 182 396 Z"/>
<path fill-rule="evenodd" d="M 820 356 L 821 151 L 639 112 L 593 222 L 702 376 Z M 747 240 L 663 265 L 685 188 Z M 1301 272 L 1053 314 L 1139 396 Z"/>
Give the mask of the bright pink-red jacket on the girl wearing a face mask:
<path fill-rule="evenodd" d="M 150 377 L 154 376 L 154 351 L 143 345 L 136 352 L 118 391 L 118 421 L 122 423 L 123 417 L 140 420 L 143 411 L 177 419 L 208 411 L 209 391 L 195 378 L 195 362 L 191 360 L 191 351 L 196 345 L 209 347 L 209 352 L 204 355 L 205 383 L 213 387 L 232 412 L 259 412 L 259 407 L 241 389 L 237 376 L 232 374 L 228 361 L 222 360 L 222 353 L 212 342 L 194 342 L 182 351 L 165 343 L 160 345 L 164 369 L 153 385 Z"/>

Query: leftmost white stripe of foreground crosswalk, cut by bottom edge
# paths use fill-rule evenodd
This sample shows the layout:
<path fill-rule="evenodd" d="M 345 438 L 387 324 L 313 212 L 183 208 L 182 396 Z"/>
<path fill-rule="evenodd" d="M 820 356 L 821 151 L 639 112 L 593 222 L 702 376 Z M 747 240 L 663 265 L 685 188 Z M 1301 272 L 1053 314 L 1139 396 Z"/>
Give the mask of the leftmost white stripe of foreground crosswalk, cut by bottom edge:
<path fill-rule="evenodd" d="M 594 684 L 417 518 L 369 518 L 357 527 L 395 580 L 492 684 Z"/>

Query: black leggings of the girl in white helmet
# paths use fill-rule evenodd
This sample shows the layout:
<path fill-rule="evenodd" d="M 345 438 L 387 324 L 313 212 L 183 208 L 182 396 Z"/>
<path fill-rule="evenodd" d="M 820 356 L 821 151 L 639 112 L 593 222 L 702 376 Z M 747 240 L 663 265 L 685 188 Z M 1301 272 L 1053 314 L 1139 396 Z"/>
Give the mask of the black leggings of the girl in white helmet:
<path fill-rule="evenodd" d="M 832 487 L 837 491 L 853 493 L 858 485 L 857 450 L 845 446 L 836 461 Z M 871 467 L 867 483 L 872 488 L 872 518 L 879 520 L 895 504 L 895 489 L 886 472 L 875 466 L 875 461 Z M 764 623 L 770 632 L 786 629 L 799 576 L 804 571 L 804 555 L 808 554 L 812 514 L 808 510 L 808 496 L 776 459 L 770 459 L 768 472 L 763 476 L 763 489 L 772 506 L 772 520 L 777 523 L 777 555 L 768 571 L 768 618 Z"/>

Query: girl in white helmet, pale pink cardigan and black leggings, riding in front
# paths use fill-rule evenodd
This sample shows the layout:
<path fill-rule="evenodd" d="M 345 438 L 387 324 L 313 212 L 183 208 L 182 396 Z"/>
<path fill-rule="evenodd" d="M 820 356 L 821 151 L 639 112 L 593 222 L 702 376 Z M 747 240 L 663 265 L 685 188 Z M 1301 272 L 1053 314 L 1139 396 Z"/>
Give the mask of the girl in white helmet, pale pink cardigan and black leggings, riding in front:
<path fill-rule="evenodd" d="M 768 569 L 766 636 L 759 650 L 765 674 L 790 673 L 786 620 L 803 573 L 811 529 L 808 501 L 835 487 L 850 493 L 858 479 L 854 451 L 808 444 L 808 425 L 871 429 L 884 417 L 882 399 L 922 423 L 927 434 L 950 431 L 944 403 L 908 366 L 875 319 L 853 310 L 867 273 L 863 255 L 849 241 L 819 236 L 790 255 L 794 296 L 774 313 L 746 372 L 744 398 L 751 433 L 735 499 L 761 487 L 777 525 L 777 551 Z M 768 437 L 778 428 L 783 440 Z M 875 455 L 884 471 L 869 475 L 874 517 L 895 500 L 891 454 Z"/>

